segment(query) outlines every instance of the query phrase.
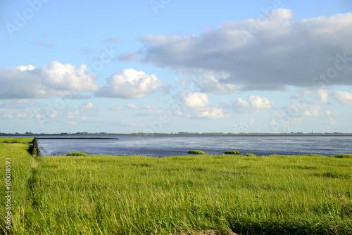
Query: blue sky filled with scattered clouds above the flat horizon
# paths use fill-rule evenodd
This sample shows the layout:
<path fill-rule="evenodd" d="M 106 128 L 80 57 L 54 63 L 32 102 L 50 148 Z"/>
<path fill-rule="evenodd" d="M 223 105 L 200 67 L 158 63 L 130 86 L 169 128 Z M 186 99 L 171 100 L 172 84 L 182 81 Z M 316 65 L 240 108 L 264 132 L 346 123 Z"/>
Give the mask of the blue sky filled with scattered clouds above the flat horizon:
<path fill-rule="evenodd" d="M 1 0 L 0 25 L 0 132 L 352 132 L 352 1 Z"/>

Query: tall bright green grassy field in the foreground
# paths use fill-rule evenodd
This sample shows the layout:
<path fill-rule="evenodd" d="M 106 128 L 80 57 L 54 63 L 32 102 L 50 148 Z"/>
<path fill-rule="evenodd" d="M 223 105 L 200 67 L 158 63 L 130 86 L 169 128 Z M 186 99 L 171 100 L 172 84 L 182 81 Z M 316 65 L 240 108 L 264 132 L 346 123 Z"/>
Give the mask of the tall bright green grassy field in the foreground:
<path fill-rule="evenodd" d="M 32 159 L 29 147 L 0 139 L 13 234 L 352 234 L 351 155 Z"/>

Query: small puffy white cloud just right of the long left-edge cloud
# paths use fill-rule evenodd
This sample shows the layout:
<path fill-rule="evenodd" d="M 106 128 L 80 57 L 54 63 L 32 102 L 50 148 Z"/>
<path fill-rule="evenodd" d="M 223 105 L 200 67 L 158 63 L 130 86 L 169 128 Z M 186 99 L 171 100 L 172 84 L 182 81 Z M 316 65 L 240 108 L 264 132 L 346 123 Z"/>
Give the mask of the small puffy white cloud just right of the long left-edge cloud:
<path fill-rule="evenodd" d="M 132 68 L 116 72 L 106 79 L 107 86 L 96 92 L 96 96 L 122 99 L 139 99 L 161 89 L 162 82 L 156 75 L 146 75 Z"/>

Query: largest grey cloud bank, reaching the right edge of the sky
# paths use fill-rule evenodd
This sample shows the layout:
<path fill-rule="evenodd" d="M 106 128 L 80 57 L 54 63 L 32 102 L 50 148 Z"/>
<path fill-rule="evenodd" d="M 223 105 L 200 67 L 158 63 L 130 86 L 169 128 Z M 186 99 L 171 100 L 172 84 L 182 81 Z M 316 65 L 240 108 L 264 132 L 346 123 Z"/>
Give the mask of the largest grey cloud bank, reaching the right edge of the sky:
<path fill-rule="evenodd" d="M 197 76 L 203 92 L 352 85 L 352 13 L 300 21 L 288 9 L 270 14 L 258 32 L 248 19 L 201 34 L 145 35 L 142 62 Z"/>

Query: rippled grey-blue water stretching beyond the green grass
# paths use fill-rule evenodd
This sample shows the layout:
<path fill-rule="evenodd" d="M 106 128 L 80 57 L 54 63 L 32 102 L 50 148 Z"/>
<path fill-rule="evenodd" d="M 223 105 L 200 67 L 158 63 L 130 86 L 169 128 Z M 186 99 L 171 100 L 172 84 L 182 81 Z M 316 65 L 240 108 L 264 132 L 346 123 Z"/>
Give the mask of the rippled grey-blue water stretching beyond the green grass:
<path fill-rule="evenodd" d="M 65 136 L 57 137 L 62 138 Z M 84 152 L 98 155 L 147 155 L 163 157 L 187 155 L 187 151 L 191 149 L 205 151 L 207 154 L 214 155 L 221 155 L 228 150 L 237 150 L 241 154 L 254 153 L 256 155 L 352 154 L 352 136 L 248 134 L 121 135 L 103 137 L 118 139 L 38 139 L 38 144 L 41 155 L 65 155 L 69 152 Z"/>

